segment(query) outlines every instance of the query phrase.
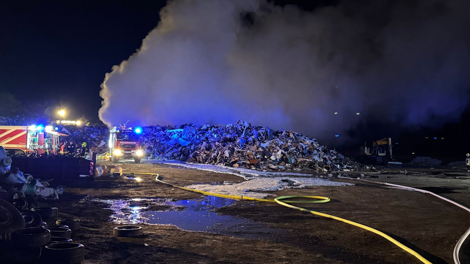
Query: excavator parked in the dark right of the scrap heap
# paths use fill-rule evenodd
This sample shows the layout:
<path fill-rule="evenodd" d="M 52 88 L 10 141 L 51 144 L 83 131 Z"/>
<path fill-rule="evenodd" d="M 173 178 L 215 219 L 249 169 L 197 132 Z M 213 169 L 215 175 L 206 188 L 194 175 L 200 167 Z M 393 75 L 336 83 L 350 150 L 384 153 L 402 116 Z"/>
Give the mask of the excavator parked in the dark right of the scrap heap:
<path fill-rule="evenodd" d="M 392 138 L 384 138 L 372 142 L 372 150 L 364 143 L 363 147 L 359 149 L 359 161 L 366 164 L 401 164 L 400 162 L 393 161 L 392 155 Z"/>

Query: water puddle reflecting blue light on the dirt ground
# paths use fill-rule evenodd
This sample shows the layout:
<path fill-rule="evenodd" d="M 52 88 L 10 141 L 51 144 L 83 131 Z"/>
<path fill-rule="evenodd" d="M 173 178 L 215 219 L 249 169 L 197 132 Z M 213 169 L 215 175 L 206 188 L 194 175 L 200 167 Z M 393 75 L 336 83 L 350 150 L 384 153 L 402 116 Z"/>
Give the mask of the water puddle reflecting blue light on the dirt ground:
<path fill-rule="evenodd" d="M 111 221 L 122 224 L 171 224 L 184 230 L 219 233 L 249 239 L 284 240 L 289 231 L 271 228 L 245 218 L 218 215 L 214 209 L 235 203 L 235 200 L 205 196 L 194 200 L 134 198 L 97 200 L 109 204 L 114 211 Z"/>

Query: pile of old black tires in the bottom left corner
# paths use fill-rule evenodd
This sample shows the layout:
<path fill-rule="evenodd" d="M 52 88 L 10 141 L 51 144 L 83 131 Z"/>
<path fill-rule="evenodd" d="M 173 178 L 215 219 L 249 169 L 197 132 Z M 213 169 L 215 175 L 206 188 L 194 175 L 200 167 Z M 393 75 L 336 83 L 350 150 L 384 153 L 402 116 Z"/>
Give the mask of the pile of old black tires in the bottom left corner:
<path fill-rule="evenodd" d="M 81 263 L 85 247 L 71 239 L 80 220 L 57 219 L 57 214 L 55 207 L 27 210 L 25 201 L 0 200 L 0 263 Z"/>

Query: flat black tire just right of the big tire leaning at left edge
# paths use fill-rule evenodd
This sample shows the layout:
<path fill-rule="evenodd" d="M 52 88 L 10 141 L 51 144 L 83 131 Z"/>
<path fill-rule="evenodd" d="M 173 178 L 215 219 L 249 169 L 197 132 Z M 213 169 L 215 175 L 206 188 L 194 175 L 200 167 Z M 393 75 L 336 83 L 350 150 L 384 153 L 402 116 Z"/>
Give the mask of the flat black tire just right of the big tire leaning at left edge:
<path fill-rule="evenodd" d="M 46 228 L 28 227 L 13 232 L 12 241 L 18 246 L 39 247 L 46 245 L 51 233 Z"/>

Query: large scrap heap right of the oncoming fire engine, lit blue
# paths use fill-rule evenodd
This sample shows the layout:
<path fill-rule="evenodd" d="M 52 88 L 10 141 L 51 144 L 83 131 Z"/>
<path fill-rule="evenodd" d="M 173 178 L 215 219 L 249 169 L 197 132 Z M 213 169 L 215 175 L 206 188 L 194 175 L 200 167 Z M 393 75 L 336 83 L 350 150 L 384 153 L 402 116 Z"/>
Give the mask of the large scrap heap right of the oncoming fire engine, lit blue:
<path fill-rule="evenodd" d="M 143 133 L 149 159 L 172 159 L 258 170 L 344 170 L 360 166 L 316 139 L 297 132 L 251 126 L 239 120 L 217 127 L 182 129 L 148 126 Z"/>

